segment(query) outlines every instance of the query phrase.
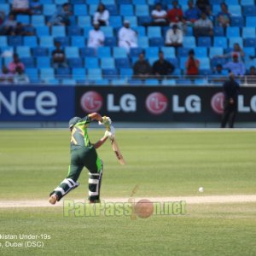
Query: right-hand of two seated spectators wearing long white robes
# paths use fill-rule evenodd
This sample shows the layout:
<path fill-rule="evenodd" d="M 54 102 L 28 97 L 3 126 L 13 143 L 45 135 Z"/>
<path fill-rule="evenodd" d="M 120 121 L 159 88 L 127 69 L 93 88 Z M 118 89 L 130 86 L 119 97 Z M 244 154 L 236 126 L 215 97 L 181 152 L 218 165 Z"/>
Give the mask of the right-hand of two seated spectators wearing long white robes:
<path fill-rule="evenodd" d="M 124 47 L 127 53 L 131 47 L 137 47 L 137 32 L 130 28 L 129 20 L 125 20 L 124 26 L 119 29 L 119 47 Z"/>

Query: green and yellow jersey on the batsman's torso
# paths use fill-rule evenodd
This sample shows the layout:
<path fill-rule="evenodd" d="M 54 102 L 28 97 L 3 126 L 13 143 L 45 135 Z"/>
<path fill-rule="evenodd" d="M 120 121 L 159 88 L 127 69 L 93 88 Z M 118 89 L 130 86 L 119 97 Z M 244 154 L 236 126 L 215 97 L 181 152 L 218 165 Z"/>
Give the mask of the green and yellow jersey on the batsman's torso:
<path fill-rule="evenodd" d="M 78 148 L 91 148 L 90 139 L 87 128 L 90 125 L 90 117 L 86 116 L 80 119 L 78 123 L 73 126 L 70 140 L 70 150 L 73 151 Z"/>

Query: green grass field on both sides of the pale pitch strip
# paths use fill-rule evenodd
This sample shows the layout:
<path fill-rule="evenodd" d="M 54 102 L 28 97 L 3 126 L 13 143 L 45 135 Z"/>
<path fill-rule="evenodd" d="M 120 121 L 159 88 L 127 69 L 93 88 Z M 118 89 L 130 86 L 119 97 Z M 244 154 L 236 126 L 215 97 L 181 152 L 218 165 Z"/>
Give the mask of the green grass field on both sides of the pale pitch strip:
<path fill-rule="evenodd" d="M 91 130 L 94 142 L 101 130 Z M 48 200 L 66 176 L 69 132 L 0 131 L 0 201 Z M 102 198 L 256 194 L 255 131 L 120 130 L 126 166 L 110 144 Z M 87 197 L 88 174 L 67 199 Z M 198 192 L 203 186 L 205 192 Z M 255 255 L 256 203 L 188 204 L 181 216 L 63 217 L 62 207 L 0 208 L 1 234 L 47 234 L 44 247 L 0 255 Z M 1 239 L 0 243 L 4 243 Z"/>

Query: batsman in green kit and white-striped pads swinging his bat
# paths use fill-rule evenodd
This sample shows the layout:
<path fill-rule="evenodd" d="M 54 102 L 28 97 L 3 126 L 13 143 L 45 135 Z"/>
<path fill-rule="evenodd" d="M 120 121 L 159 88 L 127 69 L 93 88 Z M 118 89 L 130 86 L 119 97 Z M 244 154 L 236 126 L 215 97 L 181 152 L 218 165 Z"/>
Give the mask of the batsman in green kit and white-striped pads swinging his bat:
<path fill-rule="evenodd" d="M 102 117 L 99 113 L 90 113 L 84 118 L 73 117 L 69 120 L 70 165 L 67 177 L 49 194 L 49 203 L 54 205 L 69 191 L 79 186 L 77 180 L 84 166 L 89 170 L 89 201 L 90 203 L 100 202 L 103 162 L 97 155 L 96 148 L 100 148 L 108 138 L 112 138 L 114 131 L 105 131 L 104 136 L 98 142 L 90 143 L 87 128 L 93 120 L 97 120 L 99 125 L 105 125 L 105 127 L 111 125 L 111 119 L 106 116 Z"/>

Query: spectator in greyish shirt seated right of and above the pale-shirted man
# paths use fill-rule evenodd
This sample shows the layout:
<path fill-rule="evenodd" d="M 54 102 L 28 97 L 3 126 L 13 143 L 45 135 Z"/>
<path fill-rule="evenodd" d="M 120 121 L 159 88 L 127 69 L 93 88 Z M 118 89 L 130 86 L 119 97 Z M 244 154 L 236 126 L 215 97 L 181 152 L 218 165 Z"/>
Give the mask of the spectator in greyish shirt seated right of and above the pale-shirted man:
<path fill-rule="evenodd" d="M 194 23 L 195 37 L 211 37 L 213 35 L 212 20 L 207 17 L 206 13 L 201 13 L 201 18 Z"/>

